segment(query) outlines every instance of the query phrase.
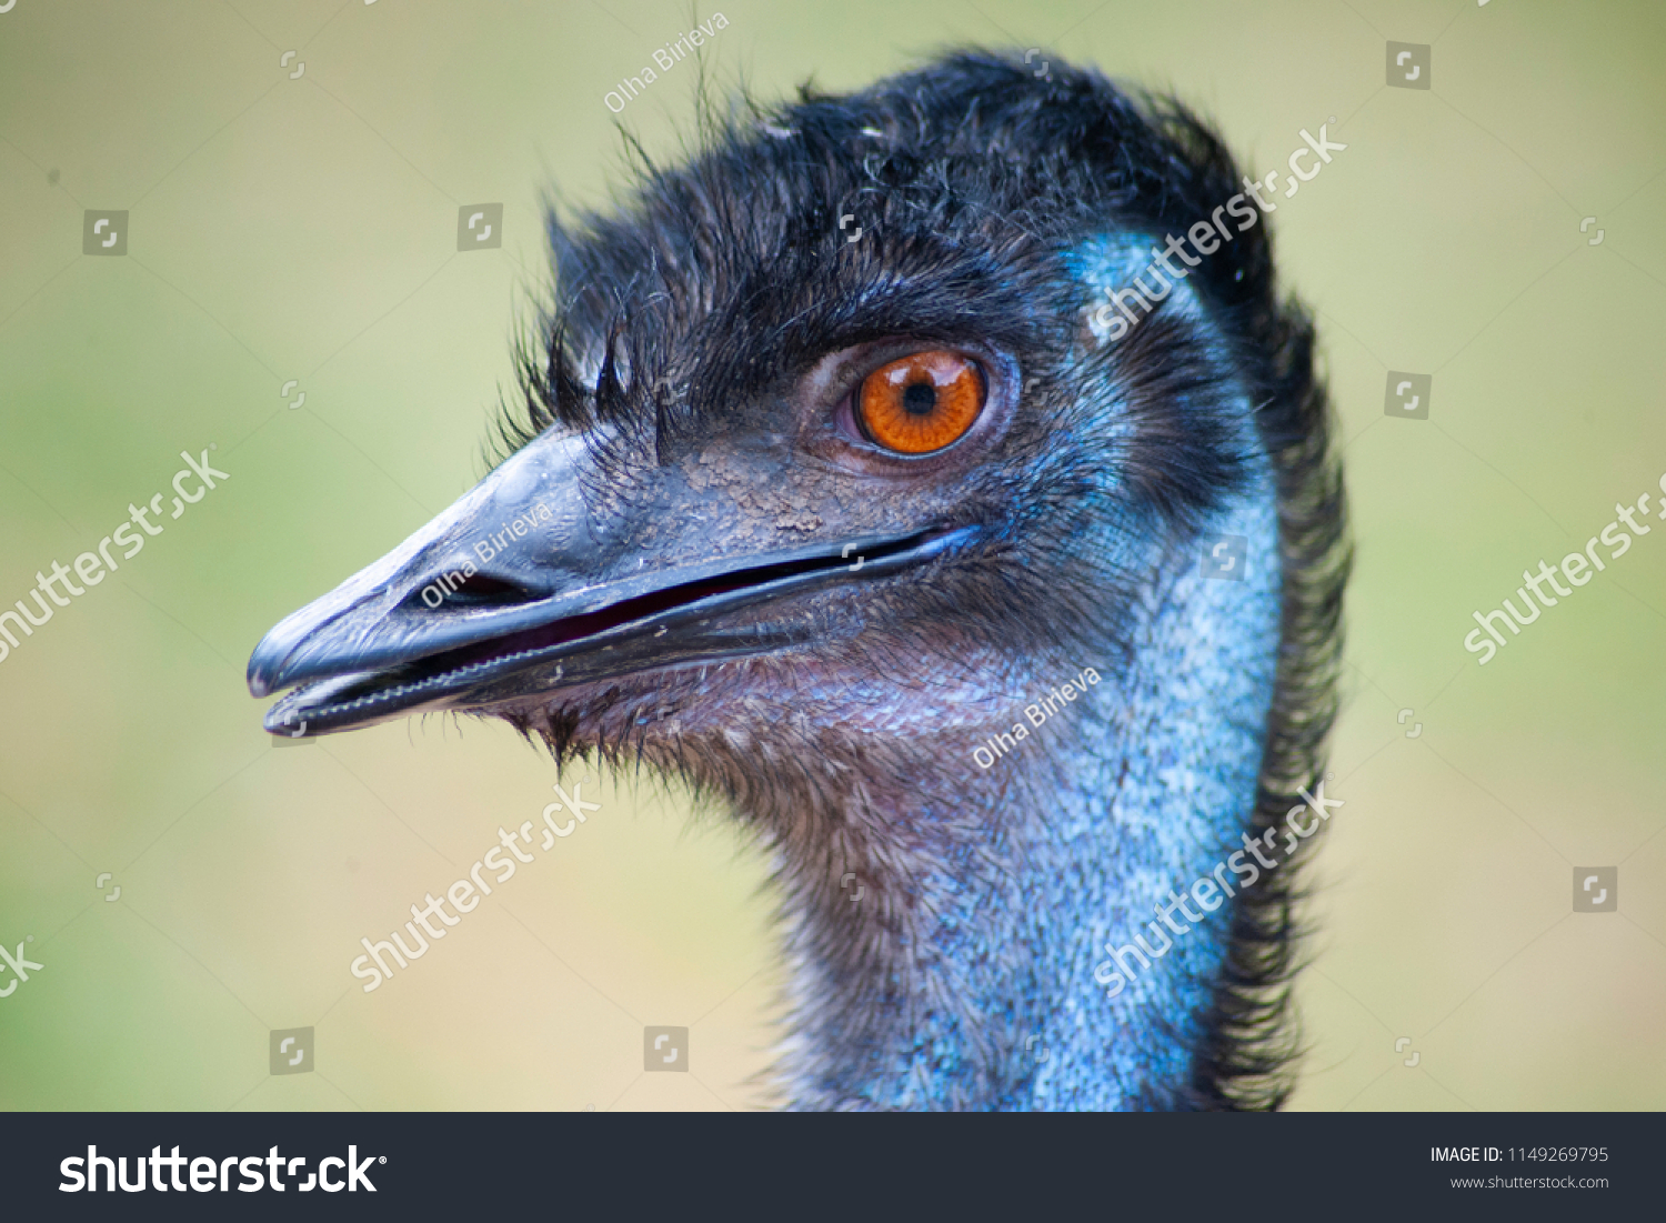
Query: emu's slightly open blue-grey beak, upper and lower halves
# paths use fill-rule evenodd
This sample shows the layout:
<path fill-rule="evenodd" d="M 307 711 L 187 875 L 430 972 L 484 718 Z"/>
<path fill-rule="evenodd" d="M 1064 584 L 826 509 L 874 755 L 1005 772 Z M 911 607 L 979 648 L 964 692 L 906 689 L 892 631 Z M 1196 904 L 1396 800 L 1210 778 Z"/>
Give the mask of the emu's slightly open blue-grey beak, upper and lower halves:
<path fill-rule="evenodd" d="M 653 507 L 598 522 L 580 438 L 540 438 L 392 553 L 280 621 L 248 690 L 303 685 L 265 716 L 312 736 L 423 710 L 488 710 L 561 686 L 811 640 L 808 616 L 738 615 L 871 582 L 965 543 L 968 528 L 741 550 L 695 525 L 723 493 L 665 472 Z M 658 530 L 665 527 L 666 530 Z M 660 545 L 643 540 L 661 538 Z M 735 532 L 755 543 L 756 532 Z M 770 538 L 770 537 L 765 537 Z M 466 577 L 465 577 L 466 575 Z"/>

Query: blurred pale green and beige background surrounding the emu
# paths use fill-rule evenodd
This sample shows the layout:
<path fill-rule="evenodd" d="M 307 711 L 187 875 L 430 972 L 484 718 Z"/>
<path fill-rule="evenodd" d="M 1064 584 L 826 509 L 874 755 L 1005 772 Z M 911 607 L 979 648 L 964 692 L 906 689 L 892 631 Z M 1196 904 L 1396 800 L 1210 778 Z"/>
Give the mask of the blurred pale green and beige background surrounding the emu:
<path fill-rule="evenodd" d="M 45 965 L 0 1000 L 0 1106 L 771 1101 L 768 863 L 723 820 L 598 778 L 578 835 L 365 995 L 358 938 L 536 820 L 553 768 L 451 718 L 273 746 L 243 688 L 270 625 L 483 473 L 540 192 L 605 203 L 618 123 L 675 153 L 691 62 L 603 95 L 713 12 L 708 67 L 765 97 L 995 43 L 1171 88 L 1261 173 L 1336 117 L 1274 217 L 1359 548 L 1293 1103 L 1666 1103 L 1666 530 L 1486 668 L 1461 645 L 1666 472 L 1666 10 L 720 2 L 0 15 L 0 605 L 180 450 L 232 477 L 0 663 L 0 941 Z M 1433 47 L 1433 88 L 1384 85 L 1389 40 Z M 503 247 L 458 253 L 476 202 Z M 97 208 L 125 257 L 82 253 Z M 1384 420 L 1389 370 L 1433 375 L 1428 420 Z M 1603 865 L 1619 911 L 1573 913 Z M 645 1025 L 691 1028 L 691 1073 L 643 1075 Z M 317 1071 L 270 1075 L 303 1026 Z"/>

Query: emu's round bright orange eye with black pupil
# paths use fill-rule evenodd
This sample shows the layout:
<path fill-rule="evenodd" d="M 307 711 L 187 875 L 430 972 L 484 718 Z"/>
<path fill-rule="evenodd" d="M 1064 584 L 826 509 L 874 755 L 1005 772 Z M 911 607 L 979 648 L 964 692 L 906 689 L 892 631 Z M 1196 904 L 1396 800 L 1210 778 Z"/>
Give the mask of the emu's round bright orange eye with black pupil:
<path fill-rule="evenodd" d="M 988 393 L 976 362 L 940 348 L 913 353 L 861 380 L 856 425 L 875 445 L 926 455 L 963 438 Z"/>

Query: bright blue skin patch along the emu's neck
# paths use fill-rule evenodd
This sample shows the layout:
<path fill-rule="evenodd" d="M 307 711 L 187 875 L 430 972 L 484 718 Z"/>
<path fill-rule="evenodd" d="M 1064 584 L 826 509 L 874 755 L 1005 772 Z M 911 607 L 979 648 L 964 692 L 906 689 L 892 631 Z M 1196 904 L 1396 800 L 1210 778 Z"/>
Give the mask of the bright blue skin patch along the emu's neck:
<path fill-rule="evenodd" d="M 1206 530 L 1248 538 L 1245 582 L 1205 578 L 1196 567 L 1173 578 L 1151 602 L 1158 610 L 1136 635 L 1131 668 L 1106 658 L 1036 668 L 1005 725 L 941 743 L 961 770 L 953 805 L 871 795 L 893 826 L 953 821 L 1000 833 L 958 841 L 911 873 L 915 911 L 926 920 L 900 933 L 908 966 L 888 973 L 908 998 L 885 1010 L 861 1046 L 893 1056 L 838 1053 L 848 1038 L 841 1016 L 801 1015 L 795 1045 L 806 1061 L 821 1051 L 803 1105 L 1116 1110 L 1161 1105 L 1188 1081 L 1191 1016 L 1210 1000 L 1231 908 L 1193 925 L 1170 908 L 1170 890 L 1188 893 L 1243 848 L 1278 650 L 1278 575 L 1256 565 L 1278 555 L 1271 498 L 1235 507 Z M 1030 725 L 1023 705 L 1075 683 L 1083 666 L 1101 681 Z M 1013 723 L 1028 736 L 980 768 L 971 750 Z M 1170 908 L 1185 933 L 1153 905 Z M 1095 978 L 1106 943 L 1143 936 L 1161 951 L 1153 921 L 1171 946 L 1150 970 L 1130 960 L 1135 978 L 1106 990 L 1103 968 Z M 803 956 L 800 971 L 801 996 L 850 993 Z"/>

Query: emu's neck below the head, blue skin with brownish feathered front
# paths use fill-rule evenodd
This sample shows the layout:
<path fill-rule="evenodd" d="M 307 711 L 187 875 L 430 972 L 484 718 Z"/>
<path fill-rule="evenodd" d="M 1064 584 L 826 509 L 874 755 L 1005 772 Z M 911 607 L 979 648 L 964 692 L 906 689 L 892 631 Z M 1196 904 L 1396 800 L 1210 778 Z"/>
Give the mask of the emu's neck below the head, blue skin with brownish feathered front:
<path fill-rule="evenodd" d="M 1185 1090 L 1231 903 L 1200 925 L 1173 911 L 1186 933 L 1153 905 L 1243 848 L 1279 623 L 1271 497 L 1210 532 L 1248 538 L 1246 580 L 1171 558 L 1131 650 L 1026 660 L 921 733 L 916 768 L 870 756 L 820 835 L 781 838 L 795 1106 L 1111 1110 Z M 1100 683 L 1033 725 L 1023 706 L 1088 666 Z M 1028 735 L 981 766 L 973 748 L 1015 723 Z M 1106 945 L 1158 950 L 1153 921 L 1171 946 L 1108 996 Z"/>

